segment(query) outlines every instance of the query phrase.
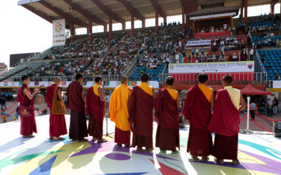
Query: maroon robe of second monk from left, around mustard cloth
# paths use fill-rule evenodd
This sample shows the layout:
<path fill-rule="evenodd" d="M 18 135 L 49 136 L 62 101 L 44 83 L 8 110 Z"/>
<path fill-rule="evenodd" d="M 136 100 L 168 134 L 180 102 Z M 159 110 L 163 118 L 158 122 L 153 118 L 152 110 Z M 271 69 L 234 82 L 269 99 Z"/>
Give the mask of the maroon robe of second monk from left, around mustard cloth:
<path fill-rule="evenodd" d="M 60 137 L 62 135 L 67 134 L 65 115 L 52 114 L 53 94 L 56 86 L 57 86 L 56 84 L 53 84 L 47 87 L 46 90 L 46 103 L 48 105 L 48 108 L 50 109 L 50 127 L 49 127 L 50 137 Z M 57 90 L 61 90 L 61 87 L 58 87 Z M 59 97 L 57 97 L 57 99 L 60 100 Z"/>

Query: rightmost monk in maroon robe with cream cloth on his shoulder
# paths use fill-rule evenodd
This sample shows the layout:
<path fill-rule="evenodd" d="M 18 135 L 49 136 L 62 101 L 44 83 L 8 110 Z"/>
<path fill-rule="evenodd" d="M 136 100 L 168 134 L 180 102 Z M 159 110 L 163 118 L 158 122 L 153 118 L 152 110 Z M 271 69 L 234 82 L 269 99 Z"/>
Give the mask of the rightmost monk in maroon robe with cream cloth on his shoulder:
<path fill-rule="evenodd" d="M 233 160 L 237 165 L 238 133 L 240 111 L 246 107 L 240 90 L 231 87 L 233 78 L 223 76 L 223 90 L 218 90 L 214 113 L 209 122 L 208 130 L 216 134 L 214 141 L 215 161 L 222 165 L 224 159 Z"/>

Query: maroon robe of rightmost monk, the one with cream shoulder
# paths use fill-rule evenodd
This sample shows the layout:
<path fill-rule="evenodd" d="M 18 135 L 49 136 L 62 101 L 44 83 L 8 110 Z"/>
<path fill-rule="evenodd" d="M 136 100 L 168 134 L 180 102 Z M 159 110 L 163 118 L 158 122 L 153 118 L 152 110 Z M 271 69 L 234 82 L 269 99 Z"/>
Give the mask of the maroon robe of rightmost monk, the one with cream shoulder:
<path fill-rule="evenodd" d="M 216 134 L 214 157 L 218 159 L 237 160 L 240 111 L 230 99 L 227 90 L 218 90 L 216 104 L 208 130 Z"/>

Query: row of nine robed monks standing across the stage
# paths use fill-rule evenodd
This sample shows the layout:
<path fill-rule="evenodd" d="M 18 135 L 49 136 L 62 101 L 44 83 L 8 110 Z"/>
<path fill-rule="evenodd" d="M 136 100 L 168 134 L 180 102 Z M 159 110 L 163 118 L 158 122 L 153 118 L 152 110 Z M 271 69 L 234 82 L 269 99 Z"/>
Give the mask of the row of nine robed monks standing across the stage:
<path fill-rule="evenodd" d="M 180 148 L 179 123 L 180 96 L 173 89 L 174 78 L 166 78 L 166 87 L 155 90 L 148 85 L 149 75 L 141 75 L 141 85 L 129 87 L 128 78 L 120 78 L 121 85 L 112 93 L 109 105 L 110 120 L 115 122 L 115 143 L 117 146 L 137 147 L 137 151 L 153 151 L 153 116 L 158 124 L 155 146 L 160 153 L 178 154 Z M 213 90 L 207 86 L 208 76 L 200 73 L 197 76 L 198 85 L 193 86 L 183 104 L 183 115 L 190 123 L 187 151 L 192 160 L 208 161 L 209 155 L 214 155 L 218 164 L 224 159 L 233 160 L 237 165 L 238 132 L 240 111 L 245 108 L 245 102 L 240 90 L 233 88 L 231 76 L 224 76 L 224 89 L 218 90 L 214 97 Z M 35 88 L 32 93 L 28 88 L 30 78 L 22 76 L 22 87 L 19 90 L 18 101 L 21 104 L 33 106 L 33 97 L 39 92 Z M 81 83 L 83 75 L 77 73 L 75 80 L 67 87 L 67 108 L 70 113 L 70 139 L 72 141 L 87 141 L 88 134 L 92 141 L 106 142 L 103 139 L 103 118 L 105 115 L 106 97 L 102 88 L 103 79 L 96 76 L 96 84 L 89 88 L 86 97 Z M 65 116 L 52 113 L 54 99 L 62 101 L 60 78 L 55 77 L 53 85 L 47 88 L 46 102 L 50 108 L 50 139 L 63 140 L 61 135 L 67 134 Z M 54 98 L 57 96 L 56 98 Z M 86 101 L 86 102 L 85 102 Z M 153 110 L 155 109 L 155 113 Z M 214 109 L 214 111 L 213 111 Z M 86 113 L 89 114 L 89 127 L 86 126 Z M 22 118 L 20 134 L 23 137 L 34 137 L 37 132 L 34 115 Z M 132 145 L 131 132 L 133 132 Z M 214 145 L 211 132 L 215 133 Z M 178 148 L 178 150 L 176 149 Z"/>

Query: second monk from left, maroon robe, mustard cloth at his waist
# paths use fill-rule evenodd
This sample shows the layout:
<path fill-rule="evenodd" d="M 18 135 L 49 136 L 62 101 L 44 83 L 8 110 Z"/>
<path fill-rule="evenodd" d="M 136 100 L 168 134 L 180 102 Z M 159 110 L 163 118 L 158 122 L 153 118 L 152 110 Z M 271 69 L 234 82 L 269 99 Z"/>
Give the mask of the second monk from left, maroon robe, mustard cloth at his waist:
<path fill-rule="evenodd" d="M 67 134 L 67 128 L 65 123 L 65 115 L 64 114 L 52 114 L 53 107 L 53 97 L 55 94 L 55 87 L 57 87 L 57 100 L 62 100 L 62 90 L 60 85 L 61 79 L 59 77 L 55 77 L 53 79 L 53 85 L 47 87 L 46 90 L 46 103 L 48 108 L 50 109 L 50 139 L 54 139 L 55 141 L 64 140 L 64 138 L 60 137 L 62 135 Z"/>

